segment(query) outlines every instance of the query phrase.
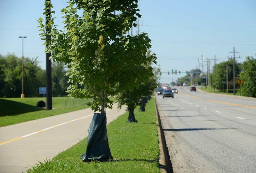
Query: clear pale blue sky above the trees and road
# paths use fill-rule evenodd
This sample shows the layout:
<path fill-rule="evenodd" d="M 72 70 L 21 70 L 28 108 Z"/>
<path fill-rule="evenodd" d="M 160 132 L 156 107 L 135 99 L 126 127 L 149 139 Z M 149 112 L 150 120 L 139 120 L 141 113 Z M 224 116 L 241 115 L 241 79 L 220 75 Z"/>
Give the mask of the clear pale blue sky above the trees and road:
<path fill-rule="evenodd" d="M 60 27 L 60 10 L 68 0 L 51 0 L 56 12 L 55 23 Z M 138 32 L 148 33 L 152 53 L 162 71 L 161 83 L 171 83 L 192 69 L 207 70 L 233 57 L 244 62 L 247 56 L 256 58 L 256 1 L 255 0 L 140 0 Z M 45 19 L 43 0 L 0 0 L 0 54 L 13 53 L 22 57 L 37 58 L 46 68 L 44 41 L 37 28 L 40 17 Z M 202 55 L 204 60 L 202 60 Z M 200 61 L 198 61 L 198 58 Z M 171 71 L 177 70 L 177 75 Z M 168 71 L 170 74 L 168 75 Z M 179 74 L 179 71 L 181 74 Z"/>

